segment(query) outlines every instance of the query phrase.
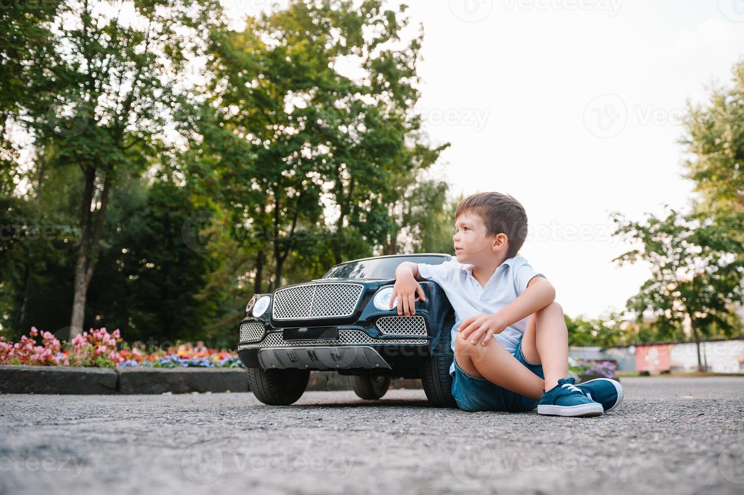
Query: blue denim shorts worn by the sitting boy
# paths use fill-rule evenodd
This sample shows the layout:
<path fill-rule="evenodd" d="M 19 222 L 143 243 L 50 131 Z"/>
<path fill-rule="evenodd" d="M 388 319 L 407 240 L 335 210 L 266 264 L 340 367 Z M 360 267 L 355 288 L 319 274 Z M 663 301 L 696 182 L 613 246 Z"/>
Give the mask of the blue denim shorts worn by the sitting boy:
<path fill-rule="evenodd" d="M 498 344 L 498 342 L 493 342 Z M 542 365 L 527 363 L 522 354 L 522 342 L 516 346 L 513 354 L 519 363 L 522 363 L 536 374 L 545 379 L 542 374 Z M 504 389 L 491 383 L 485 378 L 471 377 L 462 371 L 455 360 L 455 376 L 452 377 L 452 397 L 458 403 L 458 407 L 464 411 L 503 411 L 503 412 L 526 412 L 537 407 L 537 400 L 530 399 L 524 395 Z"/>

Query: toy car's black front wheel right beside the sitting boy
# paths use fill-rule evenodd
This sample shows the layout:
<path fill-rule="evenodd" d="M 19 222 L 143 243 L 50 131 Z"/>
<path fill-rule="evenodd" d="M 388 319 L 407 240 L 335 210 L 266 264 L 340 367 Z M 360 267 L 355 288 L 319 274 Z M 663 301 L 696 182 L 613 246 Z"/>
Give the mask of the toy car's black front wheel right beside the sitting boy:
<path fill-rule="evenodd" d="M 449 366 L 455 359 L 452 352 L 452 327 L 455 316 L 447 316 L 442 326 L 442 334 L 432 356 L 421 365 L 421 384 L 429 402 L 437 407 L 457 407 L 452 397 L 452 375 Z"/>

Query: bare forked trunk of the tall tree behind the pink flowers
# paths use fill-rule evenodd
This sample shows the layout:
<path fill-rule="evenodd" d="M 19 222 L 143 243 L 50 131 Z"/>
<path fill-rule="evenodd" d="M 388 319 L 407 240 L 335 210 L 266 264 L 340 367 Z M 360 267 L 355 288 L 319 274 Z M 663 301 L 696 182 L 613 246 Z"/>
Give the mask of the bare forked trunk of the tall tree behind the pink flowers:
<path fill-rule="evenodd" d="M 93 277 L 95 268 L 95 252 L 100 239 L 100 231 L 103 229 L 103 219 L 106 214 L 106 205 L 109 202 L 109 188 L 111 179 L 106 174 L 103 180 L 103 191 L 100 195 L 100 208 L 98 208 L 95 223 L 93 223 L 91 205 L 93 202 L 93 190 L 95 186 L 95 169 L 86 170 L 86 187 L 83 190 L 83 211 L 80 221 L 80 248 L 77 251 L 77 263 L 74 275 L 74 296 L 72 298 L 72 317 L 70 319 L 70 339 L 83 333 L 83 319 L 86 313 L 86 298 L 88 297 L 88 286 Z"/>

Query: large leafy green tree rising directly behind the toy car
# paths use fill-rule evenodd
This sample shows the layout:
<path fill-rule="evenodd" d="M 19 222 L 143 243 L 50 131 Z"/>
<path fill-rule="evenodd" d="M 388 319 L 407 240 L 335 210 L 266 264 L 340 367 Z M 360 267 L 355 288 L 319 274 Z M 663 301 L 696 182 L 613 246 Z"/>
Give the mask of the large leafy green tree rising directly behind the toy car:
<path fill-rule="evenodd" d="M 394 178 L 414 182 L 443 149 L 417 135 L 420 36 L 400 39 L 404 10 L 292 1 L 213 36 L 199 134 L 234 223 L 248 232 L 238 237 L 254 249 L 257 292 L 265 266 L 271 290 L 288 259 L 318 244 L 336 263 L 382 248 L 396 229 Z M 362 75 L 339 68 L 348 60 Z"/>

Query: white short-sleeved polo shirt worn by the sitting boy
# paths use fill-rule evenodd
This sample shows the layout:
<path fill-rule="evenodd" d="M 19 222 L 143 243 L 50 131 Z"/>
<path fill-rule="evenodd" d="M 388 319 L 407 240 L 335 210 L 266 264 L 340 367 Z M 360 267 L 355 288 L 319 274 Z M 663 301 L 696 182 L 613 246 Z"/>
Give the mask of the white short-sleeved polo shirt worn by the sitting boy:
<path fill-rule="evenodd" d="M 455 326 L 452 327 L 452 351 L 455 351 L 455 337 L 458 327 L 464 319 L 481 313 L 496 313 L 510 302 L 514 301 L 527 289 L 527 283 L 536 276 L 545 275 L 532 269 L 522 256 L 515 256 L 504 260 L 493 272 L 486 287 L 472 276 L 472 265 L 458 263 L 457 258 L 445 261 L 439 265 L 418 264 L 422 278 L 436 282 L 442 287 L 455 309 Z M 501 333 L 493 336 L 511 354 L 525 335 L 527 318 L 509 325 Z M 443 329 L 445 330 L 445 329 Z M 449 367 L 449 373 L 455 372 L 455 363 Z"/>

